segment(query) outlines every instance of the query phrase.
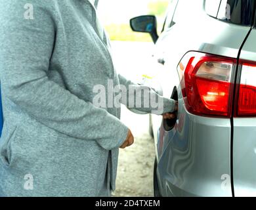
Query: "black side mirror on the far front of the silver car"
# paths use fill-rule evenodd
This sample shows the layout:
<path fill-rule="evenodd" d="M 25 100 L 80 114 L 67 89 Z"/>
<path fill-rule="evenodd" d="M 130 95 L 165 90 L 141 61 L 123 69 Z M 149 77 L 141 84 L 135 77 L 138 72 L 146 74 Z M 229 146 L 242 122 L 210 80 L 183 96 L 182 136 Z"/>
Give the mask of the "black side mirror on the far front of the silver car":
<path fill-rule="evenodd" d="M 154 43 L 158 41 L 156 16 L 154 15 L 138 16 L 130 20 L 130 25 L 133 31 L 150 33 Z"/>

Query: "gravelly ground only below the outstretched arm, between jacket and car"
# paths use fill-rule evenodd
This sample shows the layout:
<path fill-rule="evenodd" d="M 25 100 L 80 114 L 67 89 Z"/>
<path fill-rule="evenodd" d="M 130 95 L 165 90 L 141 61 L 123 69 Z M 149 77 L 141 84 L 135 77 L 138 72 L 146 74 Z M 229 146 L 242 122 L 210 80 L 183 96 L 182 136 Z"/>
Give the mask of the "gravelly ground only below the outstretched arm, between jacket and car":
<path fill-rule="evenodd" d="M 117 197 L 153 196 L 154 141 L 148 134 L 148 115 L 122 110 L 121 120 L 132 131 L 135 144 L 120 150 L 117 170 Z"/>

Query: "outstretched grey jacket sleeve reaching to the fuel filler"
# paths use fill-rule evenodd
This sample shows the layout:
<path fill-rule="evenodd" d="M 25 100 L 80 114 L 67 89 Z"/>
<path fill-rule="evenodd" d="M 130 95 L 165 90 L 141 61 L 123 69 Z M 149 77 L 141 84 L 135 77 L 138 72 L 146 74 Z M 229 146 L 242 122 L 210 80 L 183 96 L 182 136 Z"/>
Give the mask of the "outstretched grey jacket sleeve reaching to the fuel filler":
<path fill-rule="evenodd" d="M 150 87 L 137 85 L 120 74 L 118 76 L 120 85 L 123 86 L 121 91 L 125 92 L 125 94 L 122 93 L 121 103 L 129 110 L 139 114 L 158 115 L 174 112 L 175 100 L 159 95 Z"/>

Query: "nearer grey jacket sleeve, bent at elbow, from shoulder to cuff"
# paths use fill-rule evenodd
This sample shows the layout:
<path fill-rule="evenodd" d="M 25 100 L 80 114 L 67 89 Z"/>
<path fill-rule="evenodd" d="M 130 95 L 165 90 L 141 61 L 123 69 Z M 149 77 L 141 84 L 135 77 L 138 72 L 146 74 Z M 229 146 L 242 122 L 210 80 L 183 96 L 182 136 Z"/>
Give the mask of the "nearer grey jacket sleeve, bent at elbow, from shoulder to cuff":
<path fill-rule="evenodd" d="M 24 17 L 25 0 L 0 0 L 0 77 L 5 96 L 51 129 L 118 148 L 127 127 L 106 110 L 79 99 L 47 77 L 54 47 L 54 1 L 30 1 L 33 19 Z"/>

